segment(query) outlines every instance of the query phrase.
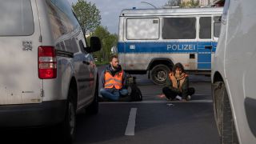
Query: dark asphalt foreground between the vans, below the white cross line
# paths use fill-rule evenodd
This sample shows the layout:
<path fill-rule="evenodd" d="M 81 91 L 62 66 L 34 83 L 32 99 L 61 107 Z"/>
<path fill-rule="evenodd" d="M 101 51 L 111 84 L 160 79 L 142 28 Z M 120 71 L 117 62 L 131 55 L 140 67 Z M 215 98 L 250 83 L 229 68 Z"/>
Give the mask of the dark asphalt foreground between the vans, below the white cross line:
<path fill-rule="evenodd" d="M 137 108 L 134 135 L 126 135 Z M 102 103 L 97 115 L 78 117 L 75 143 L 218 144 L 212 105 L 200 103 Z"/>

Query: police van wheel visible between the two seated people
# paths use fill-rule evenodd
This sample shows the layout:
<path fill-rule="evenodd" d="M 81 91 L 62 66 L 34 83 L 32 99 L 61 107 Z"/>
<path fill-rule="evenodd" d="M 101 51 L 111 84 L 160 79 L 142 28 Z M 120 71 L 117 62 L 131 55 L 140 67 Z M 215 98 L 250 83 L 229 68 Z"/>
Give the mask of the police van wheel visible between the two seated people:
<path fill-rule="evenodd" d="M 170 69 L 166 65 L 157 65 L 150 70 L 150 78 L 156 85 L 164 85 Z"/>

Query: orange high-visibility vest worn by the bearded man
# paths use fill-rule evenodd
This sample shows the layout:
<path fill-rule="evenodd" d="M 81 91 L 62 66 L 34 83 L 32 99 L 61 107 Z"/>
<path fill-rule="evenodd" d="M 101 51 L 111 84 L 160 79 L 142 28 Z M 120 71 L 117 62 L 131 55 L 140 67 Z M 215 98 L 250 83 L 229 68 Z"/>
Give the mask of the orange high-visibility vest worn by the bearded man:
<path fill-rule="evenodd" d="M 104 88 L 113 88 L 120 90 L 122 89 L 122 75 L 123 70 L 117 74 L 114 74 L 114 77 L 110 74 L 109 71 L 105 73 L 105 85 Z"/>

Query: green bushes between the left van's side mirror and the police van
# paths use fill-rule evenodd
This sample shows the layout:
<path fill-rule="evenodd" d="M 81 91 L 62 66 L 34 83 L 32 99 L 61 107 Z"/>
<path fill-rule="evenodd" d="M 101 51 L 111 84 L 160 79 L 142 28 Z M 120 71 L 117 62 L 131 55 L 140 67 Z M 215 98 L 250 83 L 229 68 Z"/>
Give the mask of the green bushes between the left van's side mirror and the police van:
<path fill-rule="evenodd" d="M 116 46 L 118 43 L 118 35 L 110 34 L 106 27 L 98 26 L 94 33 L 90 35 L 100 38 L 102 42 L 102 49 L 94 53 L 94 58 L 98 59 L 98 63 L 109 62 L 111 47 Z M 87 38 L 90 41 L 90 37 Z M 90 42 L 89 42 L 90 43 Z"/>

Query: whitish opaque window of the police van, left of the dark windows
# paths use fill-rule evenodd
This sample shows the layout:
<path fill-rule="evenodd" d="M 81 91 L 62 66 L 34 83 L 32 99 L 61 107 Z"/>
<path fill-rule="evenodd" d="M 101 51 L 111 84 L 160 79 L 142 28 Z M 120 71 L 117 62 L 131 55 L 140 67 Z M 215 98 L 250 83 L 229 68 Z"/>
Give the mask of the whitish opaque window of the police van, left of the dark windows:
<path fill-rule="evenodd" d="M 128 18 L 126 27 L 126 38 L 128 40 L 158 39 L 158 18 Z"/>

